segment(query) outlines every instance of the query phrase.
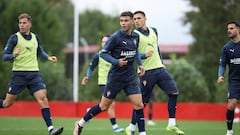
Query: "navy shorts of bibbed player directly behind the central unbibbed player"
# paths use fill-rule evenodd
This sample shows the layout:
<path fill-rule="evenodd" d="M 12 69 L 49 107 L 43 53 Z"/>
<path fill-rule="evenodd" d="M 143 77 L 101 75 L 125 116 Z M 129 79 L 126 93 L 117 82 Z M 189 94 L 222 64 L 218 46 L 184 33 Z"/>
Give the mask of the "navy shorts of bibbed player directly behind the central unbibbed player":
<path fill-rule="evenodd" d="M 148 103 L 155 85 L 158 85 L 167 95 L 177 93 L 178 88 L 172 76 L 164 68 L 148 70 L 140 76 L 140 86 L 143 103 Z"/>

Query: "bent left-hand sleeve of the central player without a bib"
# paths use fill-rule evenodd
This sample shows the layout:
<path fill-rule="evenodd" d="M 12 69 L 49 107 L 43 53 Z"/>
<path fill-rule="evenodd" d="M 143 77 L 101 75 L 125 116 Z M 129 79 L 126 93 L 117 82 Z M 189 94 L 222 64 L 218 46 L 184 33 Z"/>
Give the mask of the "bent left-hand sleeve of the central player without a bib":
<path fill-rule="evenodd" d="M 118 59 L 116 59 L 116 58 L 114 58 L 110 55 L 111 50 L 115 47 L 114 42 L 115 41 L 114 41 L 113 37 L 110 37 L 108 39 L 108 41 L 106 42 L 106 44 L 104 45 L 104 47 L 100 51 L 100 57 L 102 57 L 104 60 L 106 60 L 107 62 L 109 62 L 113 65 L 119 65 Z"/>

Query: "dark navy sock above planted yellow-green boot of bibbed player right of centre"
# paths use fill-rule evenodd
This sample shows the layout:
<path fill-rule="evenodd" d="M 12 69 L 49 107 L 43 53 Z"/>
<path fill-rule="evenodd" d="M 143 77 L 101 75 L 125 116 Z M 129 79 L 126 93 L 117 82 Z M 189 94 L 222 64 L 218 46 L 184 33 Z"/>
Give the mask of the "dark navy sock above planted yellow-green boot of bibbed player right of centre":
<path fill-rule="evenodd" d="M 177 95 L 168 96 L 168 115 L 169 118 L 175 118 L 177 106 Z"/>

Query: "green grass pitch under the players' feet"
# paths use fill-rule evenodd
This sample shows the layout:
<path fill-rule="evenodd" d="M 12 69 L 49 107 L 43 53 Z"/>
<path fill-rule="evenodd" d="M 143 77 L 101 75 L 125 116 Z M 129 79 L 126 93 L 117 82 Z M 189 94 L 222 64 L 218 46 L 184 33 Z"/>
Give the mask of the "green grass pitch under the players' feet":
<path fill-rule="evenodd" d="M 74 122 L 77 118 L 54 118 L 56 127 L 64 126 L 62 135 L 72 135 Z M 155 121 L 155 126 L 146 126 L 147 135 L 174 135 L 165 131 L 167 121 Z M 129 120 L 118 119 L 121 127 L 126 127 Z M 225 122 L 219 121 L 178 121 L 185 135 L 226 135 Z M 48 135 L 41 118 L 0 117 L 0 135 Z M 91 120 L 82 135 L 125 135 L 125 132 L 114 133 L 107 119 Z M 240 124 L 234 123 L 234 134 L 240 134 Z M 138 134 L 136 134 L 138 135 Z"/>

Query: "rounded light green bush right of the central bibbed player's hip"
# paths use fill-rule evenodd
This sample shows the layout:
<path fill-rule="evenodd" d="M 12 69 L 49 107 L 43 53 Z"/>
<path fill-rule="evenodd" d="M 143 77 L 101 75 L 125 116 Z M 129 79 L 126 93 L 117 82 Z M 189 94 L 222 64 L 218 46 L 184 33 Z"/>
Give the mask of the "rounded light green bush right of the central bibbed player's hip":
<path fill-rule="evenodd" d="M 176 59 L 171 56 L 172 63 L 167 70 L 177 83 L 180 102 L 207 102 L 210 93 L 203 75 L 185 59 Z"/>

